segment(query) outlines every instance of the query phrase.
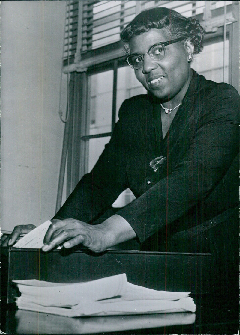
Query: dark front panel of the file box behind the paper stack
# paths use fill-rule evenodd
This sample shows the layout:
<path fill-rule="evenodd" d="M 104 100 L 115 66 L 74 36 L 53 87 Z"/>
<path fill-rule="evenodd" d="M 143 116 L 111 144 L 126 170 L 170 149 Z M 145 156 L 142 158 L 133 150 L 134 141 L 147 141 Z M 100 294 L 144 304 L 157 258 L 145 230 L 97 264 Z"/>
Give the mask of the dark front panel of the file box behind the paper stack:
<path fill-rule="evenodd" d="M 14 302 L 18 295 L 16 285 L 12 283 L 17 279 L 74 283 L 126 273 L 127 280 L 136 285 L 194 294 L 208 292 L 211 284 L 211 254 L 135 250 L 93 254 L 66 249 L 44 253 L 41 249 L 9 248 L 5 255 L 8 303 Z"/>

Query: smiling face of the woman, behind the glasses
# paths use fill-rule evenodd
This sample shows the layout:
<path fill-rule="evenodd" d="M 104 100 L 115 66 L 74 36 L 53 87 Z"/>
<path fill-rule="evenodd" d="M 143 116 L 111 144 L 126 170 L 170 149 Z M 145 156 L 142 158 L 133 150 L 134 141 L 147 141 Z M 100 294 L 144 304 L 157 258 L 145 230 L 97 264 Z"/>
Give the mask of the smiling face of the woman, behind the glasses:
<path fill-rule="evenodd" d="M 169 37 L 164 29 L 150 29 L 131 39 L 130 54 L 145 54 L 154 44 L 173 39 L 174 37 Z M 166 46 L 165 56 L 161 60 L 154 60 L 146 54 L 143 66 L 135 70 L 136 77 L 148 91 L 163 102 L 172 100 L 178 104 L 182 101 L 191 79 L 188 53 L 191 53 L 191 50 L 189 51 L 184 41 L 180 41 Z M 156 82 L 156 79 L 159 81 Z"/>

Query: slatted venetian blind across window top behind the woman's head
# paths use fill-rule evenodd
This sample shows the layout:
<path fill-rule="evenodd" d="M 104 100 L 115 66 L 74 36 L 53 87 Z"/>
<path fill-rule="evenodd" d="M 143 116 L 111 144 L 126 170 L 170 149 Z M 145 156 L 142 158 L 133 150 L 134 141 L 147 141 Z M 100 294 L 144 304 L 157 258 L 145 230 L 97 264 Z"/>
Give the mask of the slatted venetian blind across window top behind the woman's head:
<path fill-rule="evenodd" d="M 168 7 L 187 17 L 197 16 L 204 20 L 207 9 L 212 13 L 224 10 L 233 1 L 66 1 L 66 30 L 64 57 L 74 61 L 74 55 L 120 41 L 123 28 L 142 10 L 153 7 Z M 80 21 L 79 21 L 80 20 Z M 80 22 L 80 25 L 79 25 Z M 81 30 L 81 31 L 80 31 Z M 80 38 L 79 38 L 80 37 Z M 80 43 L 77 46 L 77 42 Z M 79 50 L 77 50 L 77 47 Z M 65 63 L 66 65 L 66 63 Z"/>

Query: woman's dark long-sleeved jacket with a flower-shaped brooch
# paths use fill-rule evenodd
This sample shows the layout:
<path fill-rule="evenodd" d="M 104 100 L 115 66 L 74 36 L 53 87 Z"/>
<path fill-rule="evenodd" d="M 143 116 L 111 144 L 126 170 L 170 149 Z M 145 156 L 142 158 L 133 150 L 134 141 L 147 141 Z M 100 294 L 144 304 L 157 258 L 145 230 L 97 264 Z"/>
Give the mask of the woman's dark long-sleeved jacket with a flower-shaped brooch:
<path fill-rule="evenodd" d="M 238 204 L 239 95 L 193 73 L 166 137 L 160 100 L 123 102 L 110 142 L 54 218 L 94 222 L 129 187 L 136 200 L 120 209 L 141 243 L 168 227 L 191 228 Z M 149 162 L 164 156 L 154 172 Z M 159 237 L 158 237 L 159 238 Z"/>

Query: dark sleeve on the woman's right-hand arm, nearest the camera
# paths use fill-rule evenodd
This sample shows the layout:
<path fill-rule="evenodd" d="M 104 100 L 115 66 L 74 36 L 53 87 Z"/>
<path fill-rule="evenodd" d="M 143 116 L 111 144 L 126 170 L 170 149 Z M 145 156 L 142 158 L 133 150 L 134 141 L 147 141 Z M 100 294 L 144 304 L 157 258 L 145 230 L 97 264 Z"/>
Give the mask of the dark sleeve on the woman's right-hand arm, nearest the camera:
<path fill-rule="evenodd" d="M 238 117 L 239 96 L 230 85 L 219 84 L 204 96 L 184 157 L 167 177 L 117 212 L 140 242 L 201 203 L 223 179 L 239 149 Z"/>

